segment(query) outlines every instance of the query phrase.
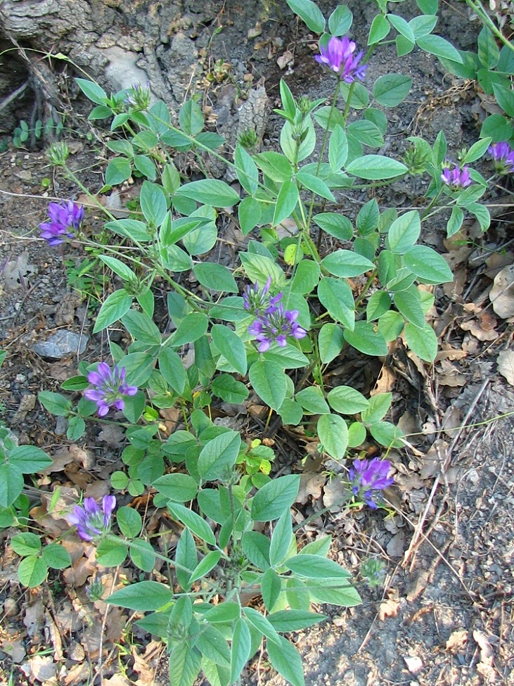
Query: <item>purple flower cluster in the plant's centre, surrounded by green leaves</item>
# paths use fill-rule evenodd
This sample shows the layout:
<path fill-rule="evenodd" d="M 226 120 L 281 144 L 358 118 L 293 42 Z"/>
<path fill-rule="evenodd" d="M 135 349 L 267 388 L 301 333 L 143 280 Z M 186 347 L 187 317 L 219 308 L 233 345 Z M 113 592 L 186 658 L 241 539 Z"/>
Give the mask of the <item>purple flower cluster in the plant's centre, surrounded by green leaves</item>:
<path fill-rule="evenodd" d="M 293 336 L 299 340 L 307 336 L 307 331 L 297 323 L 298 310 L 284 310 L 281 303 L 283 293 L 276 296 L 269 296 L 269 286 L 271 277 L 268 277 L 262 290 L 259 285 L 247 286 L 243 293 L 243 303 L 245 310 L 251 312 L 255 321 L 248 326 L 248 333 L 255 336 L 257 350 L 266 352 L 271 348 L 271 343 L 275 342 L 281 348 L 287 343 L 287 337 Z"/>

